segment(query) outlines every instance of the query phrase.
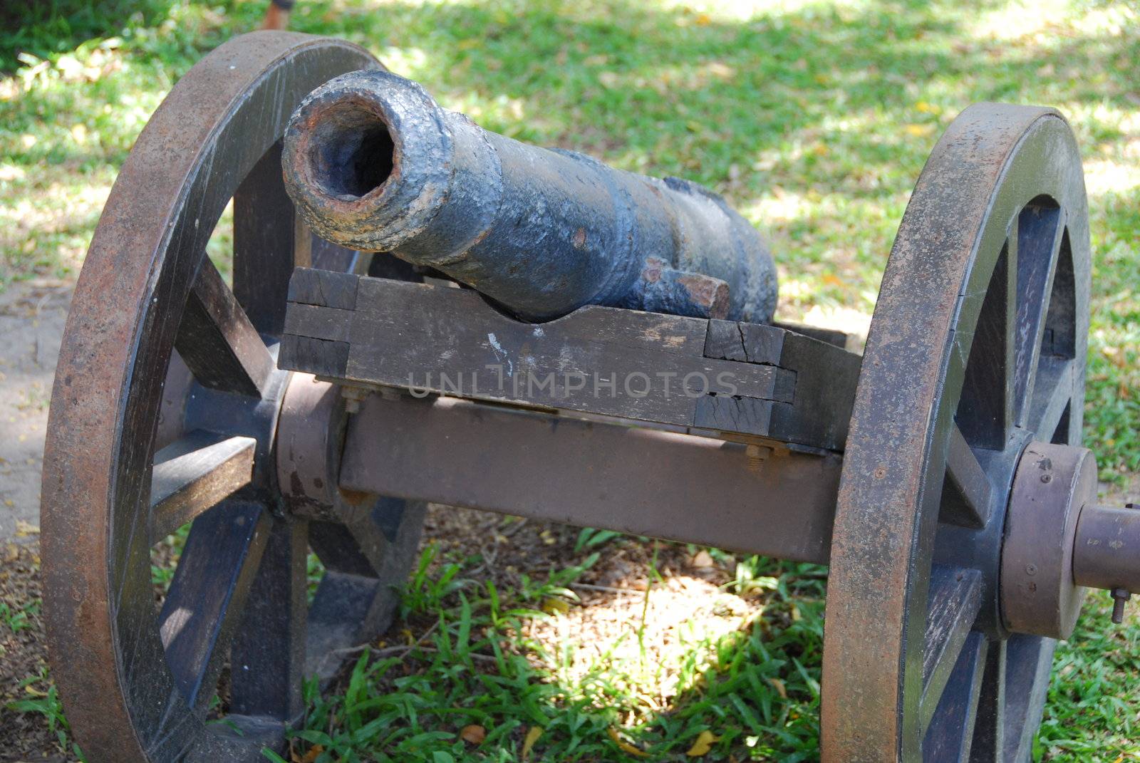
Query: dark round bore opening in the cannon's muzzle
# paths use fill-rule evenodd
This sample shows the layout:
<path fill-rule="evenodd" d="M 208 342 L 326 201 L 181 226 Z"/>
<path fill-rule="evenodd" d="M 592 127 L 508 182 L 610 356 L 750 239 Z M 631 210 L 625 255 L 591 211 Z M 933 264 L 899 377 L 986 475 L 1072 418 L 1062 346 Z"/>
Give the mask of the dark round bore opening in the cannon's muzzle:
<path fill-rule="evenodd" d="M 315 120 L 309 144 L 312 179 L 329 196 L 356 201 L 384 185 L 396 165 L 388 124 L 361 103 L 334 104 Z"/>

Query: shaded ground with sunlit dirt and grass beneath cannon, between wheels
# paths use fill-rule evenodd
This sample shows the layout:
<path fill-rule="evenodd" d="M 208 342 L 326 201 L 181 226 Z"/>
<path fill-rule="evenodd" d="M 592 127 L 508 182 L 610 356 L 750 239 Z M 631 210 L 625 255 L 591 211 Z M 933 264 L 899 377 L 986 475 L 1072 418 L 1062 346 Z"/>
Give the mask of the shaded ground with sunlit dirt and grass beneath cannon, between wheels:
<path fill-rule="evenodd" d="M 483 523 L 477 512 L 437 511 L 466 516 L 472 529 Z M 530 535 L 521 549 L 499 546 L 494 565 L 483 553 L 433 558 L 427 546 L 388 642 L 324 697 L 310 687 L 294 753 L 681 761 L 703 740 L 706 760 L 817 757 L 823 568 L 746 559 L 747 579 L 738 573 L 730 583 L 723 566 L 732 560 L 716 552 L 694 570 L 683 546 L 661 544 L 650 557 L 651 542 L 618 538 L 588 553 L 575 550 L 576 528 Z M 552 557 L 542 565 L 548 574 L 535 571 L 536 553 Z M 512 581 L 520 562 L 531 571 Z M 579 585 L 596 575 L 613 586 Z M 646 584 L 648 593 L 636 590 Z M 587 596 L 581 607 L 575 592 Z"/>

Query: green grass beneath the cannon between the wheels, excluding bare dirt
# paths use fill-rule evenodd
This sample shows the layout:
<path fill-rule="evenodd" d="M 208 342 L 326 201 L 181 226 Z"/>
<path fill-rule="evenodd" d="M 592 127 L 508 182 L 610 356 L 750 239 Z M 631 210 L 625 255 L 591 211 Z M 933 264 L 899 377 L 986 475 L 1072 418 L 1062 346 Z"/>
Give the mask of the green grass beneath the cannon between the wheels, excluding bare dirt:
<path fill-rule="evenodd" d="M 765 606 L 734 623 L 742 627 L 689 628 L 679 659 L 662 666 L 646 655 L 644 617 L 595 658 L 576 658 L 580 646 L 565 633 L 534 635 L 536 623 L 557 630 L 575 607 L 573 583 L 598 552 L 542 579 L 523 575 L 511 599 L 491 582 L 464 578 L 462 562 L 433 565 L 434 554 L 434 546 L 424 551 L 401 611 L 405 622 L 432 624 L 424 635 L 361 654 L 341 695 L 309 687 L 296 739 L 319 747 L 317 760 L 466 760 L 472 747 L 461 732 L 472 727 L 484 750 L 473 760 L 520 760 L 528 734 L 542 760 L 676 760 L 710 731 L 712 760 L 740 749 L 754 760 L 816 756 L 823 584 L 804 575 L 814 573 L 807 566 L 766 578 Z M 651 586 L 635 609 L 659 595 Z M 644 693 L 660 685 L 662 667 L 681 700 L 668 714 Z"/>

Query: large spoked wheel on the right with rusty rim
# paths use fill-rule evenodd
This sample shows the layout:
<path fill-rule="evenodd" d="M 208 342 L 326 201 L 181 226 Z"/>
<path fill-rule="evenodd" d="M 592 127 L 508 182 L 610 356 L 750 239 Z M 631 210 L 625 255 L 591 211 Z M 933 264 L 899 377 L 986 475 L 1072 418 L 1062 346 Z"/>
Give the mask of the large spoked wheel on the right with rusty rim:
<path fill-rule="evenodd" d="M 1056 477 L 1096 495 L 1088 452 L 1060 447 L 1081 441 L 1089 284 L 1066 122 L 968 108 L 919 178 L 863 358 L 828 583 L 824 761 L 1029 760 L 1054 646 L 1032 634 L 1068 635 L 1082 591 L 1069 577 L 1026 608 L 1017 592 L 1039 570 L 1003 557 L 1003 531 L 1011 493 Z"/>

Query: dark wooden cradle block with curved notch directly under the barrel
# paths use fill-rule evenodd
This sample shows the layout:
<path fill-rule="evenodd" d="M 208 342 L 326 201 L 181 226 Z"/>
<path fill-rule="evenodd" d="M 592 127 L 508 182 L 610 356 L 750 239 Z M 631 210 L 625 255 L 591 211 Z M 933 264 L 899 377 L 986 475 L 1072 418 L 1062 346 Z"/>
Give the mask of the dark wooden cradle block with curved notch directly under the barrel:
<path fill-rule="evenodd" d="M 857 355 L 775 326 L 596 306 L 530 324 L 472 290 L 303 268 L 278 362 L 361 385 L 833 451 L 860 370 Z"/>

